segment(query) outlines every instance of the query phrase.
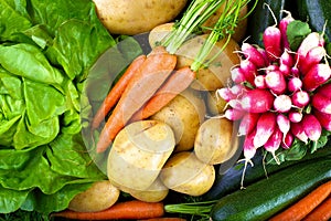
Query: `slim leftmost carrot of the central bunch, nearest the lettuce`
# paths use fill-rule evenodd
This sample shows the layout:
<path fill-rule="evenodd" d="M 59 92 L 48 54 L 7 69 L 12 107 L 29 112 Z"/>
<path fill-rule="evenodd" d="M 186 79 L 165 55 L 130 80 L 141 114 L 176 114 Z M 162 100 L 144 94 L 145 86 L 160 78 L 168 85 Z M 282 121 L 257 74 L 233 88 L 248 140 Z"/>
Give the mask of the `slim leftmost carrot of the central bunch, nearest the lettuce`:
<path fill-rule="evenodd" d="M 146 60 L 146 55 L 143 54 L 137 56 L 128 66 L 128 69 L 125 71 L 125 73 L 120 76 L 120 78 L 115 84 L 115 86 L 109 91 L 108 95 L 106 96 L 106 98 L 104 99 L 103 104 L 100 105 L 96 115 L 93 118 L 92 129 L 97 128 L 100 125 L 100 123 L 105 119 L 106 115 L 118 102 L 125 88 L 127 87 L 129 81 L 137 73 L 138 69 L 143 63 L 145 60 Z"/>

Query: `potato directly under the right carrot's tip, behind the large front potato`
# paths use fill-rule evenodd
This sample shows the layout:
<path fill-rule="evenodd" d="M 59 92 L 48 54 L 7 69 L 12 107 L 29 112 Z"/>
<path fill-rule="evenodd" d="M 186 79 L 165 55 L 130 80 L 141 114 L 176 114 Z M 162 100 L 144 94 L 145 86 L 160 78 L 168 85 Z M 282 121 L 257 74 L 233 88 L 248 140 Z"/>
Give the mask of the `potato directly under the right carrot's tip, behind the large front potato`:
<path fill-rule="evenodd" d="M 193 148 L 196 131 L 204 116 L 204 101 L 199 92 L 189 88 L 150 118 L 168 124 L 174 133 L 175 151 L 183 151 Z"/>

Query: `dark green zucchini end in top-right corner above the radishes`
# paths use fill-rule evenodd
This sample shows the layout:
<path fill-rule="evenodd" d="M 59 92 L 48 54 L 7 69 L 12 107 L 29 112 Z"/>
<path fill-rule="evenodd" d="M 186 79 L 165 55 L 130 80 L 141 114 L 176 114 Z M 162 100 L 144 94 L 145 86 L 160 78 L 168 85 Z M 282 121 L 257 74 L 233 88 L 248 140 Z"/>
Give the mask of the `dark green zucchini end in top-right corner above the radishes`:
<path fill-rule="evenodd" d="M 313 31 L 322 32 L 325 21 L 325 36 L 331 41 L 331 4 L 330 0 L 297 0 L 298 15 L 307 21 Z"/>

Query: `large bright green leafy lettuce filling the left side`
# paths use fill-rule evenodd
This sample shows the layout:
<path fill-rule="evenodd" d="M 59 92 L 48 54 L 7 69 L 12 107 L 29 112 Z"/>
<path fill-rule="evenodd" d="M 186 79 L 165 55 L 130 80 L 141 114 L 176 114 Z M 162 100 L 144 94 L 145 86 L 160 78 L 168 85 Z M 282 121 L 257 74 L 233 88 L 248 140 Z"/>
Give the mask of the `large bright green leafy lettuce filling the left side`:
<path fill-rule="evenodd" d="M 46 219 L 106 179 L 82 134 L 92 66 L 110 48 L 117 74 L 141 50 L 128 41 L 122 54 L 89 0 L 0 0 L 0 213 Z"/>

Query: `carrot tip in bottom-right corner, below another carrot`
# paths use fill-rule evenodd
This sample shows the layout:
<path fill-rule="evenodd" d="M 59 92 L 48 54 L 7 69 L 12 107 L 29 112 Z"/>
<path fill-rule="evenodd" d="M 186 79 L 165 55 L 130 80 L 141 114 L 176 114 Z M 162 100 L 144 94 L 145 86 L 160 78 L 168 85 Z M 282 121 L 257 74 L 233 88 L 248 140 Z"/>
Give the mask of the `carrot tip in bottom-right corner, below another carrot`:
<path fill-rule="evenodd" d="M 312 210 L 302 221 L 328 221 L 331 219 L 331 196 Z"/>

